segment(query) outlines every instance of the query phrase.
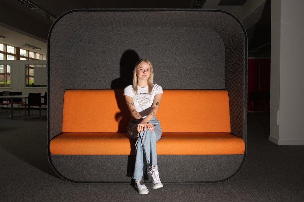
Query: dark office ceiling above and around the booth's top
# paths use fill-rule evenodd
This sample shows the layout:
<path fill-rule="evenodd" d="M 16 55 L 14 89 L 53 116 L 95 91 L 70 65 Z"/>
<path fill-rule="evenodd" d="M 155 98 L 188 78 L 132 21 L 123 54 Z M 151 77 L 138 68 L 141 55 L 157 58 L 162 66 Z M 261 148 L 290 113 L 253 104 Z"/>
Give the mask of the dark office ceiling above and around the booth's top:
<path fill-rule="evenodd" d="M 18 39 L 12 37 L 0 39 L 0 41 L 7 40 L 7 44 L 8 42 L 21 40 L 23 35 L 33 43 L 35 41 L 36 44 L 46 43 L 48 32 L 55 19 L 69 10 L 79 8 L 201 8 L 224 10 L 235 15 L 245 26 L 248 32 L 248 50 L 251 50 L 253 54 L 259 54 L 259 51 L 262 50 L 265 52 L 265 46 L 263 45 L 270 43 L 270 0 L 133 0 L 132 2 L 125 0 L 0 0 L 0 4 L 0 26 L 3 27 L 0 29 L 0 35 L 3 35 L 1 32 L 3 30 L 5 30 L 5 34 L 10 36 L 16 34 L 10 34 L 9 31 L 20 34 L 17 37 Z M 20 43 L 20 41 L 15 42 L 15 44 Z"/>

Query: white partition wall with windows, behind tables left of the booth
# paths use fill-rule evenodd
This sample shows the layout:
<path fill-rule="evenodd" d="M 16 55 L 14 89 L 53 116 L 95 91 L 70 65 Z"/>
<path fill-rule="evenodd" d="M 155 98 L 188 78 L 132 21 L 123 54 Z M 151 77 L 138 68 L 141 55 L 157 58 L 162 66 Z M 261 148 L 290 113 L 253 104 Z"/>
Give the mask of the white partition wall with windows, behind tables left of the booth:
<path fill-rule="evenodd" d="M 0 87 L 0 91 L 12 91 L 12 92 L 22 91 L 22 95 L 27 95 L 28 93 L 41 93 L 42 96 L 44 95 L 45 92 L 47 92 L 46 87 L 25 86 L 26 83 L 25 65 L 46 64 L 46 60 L 2 60 L 0 61 L 0 64 L 11 65 L 11 87 Z M 35 69 L 34 69 L 34 76 L 35 76 Z M 41 99 L 41 102 L 44 102 L 43 98 Z M 17 104 L 16 107 L 18 107 Z"/>

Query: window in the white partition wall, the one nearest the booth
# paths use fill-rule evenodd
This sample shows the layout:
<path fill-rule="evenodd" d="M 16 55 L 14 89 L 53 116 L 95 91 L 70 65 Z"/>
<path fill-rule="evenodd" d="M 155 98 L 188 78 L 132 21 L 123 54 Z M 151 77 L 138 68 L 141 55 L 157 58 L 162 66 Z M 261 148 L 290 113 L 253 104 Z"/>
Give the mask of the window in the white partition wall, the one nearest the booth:
<path fill-rule="evenodd" d="M 26 87 L 46 87 L 46 64 L 26 65 L 25 68 Z"/>

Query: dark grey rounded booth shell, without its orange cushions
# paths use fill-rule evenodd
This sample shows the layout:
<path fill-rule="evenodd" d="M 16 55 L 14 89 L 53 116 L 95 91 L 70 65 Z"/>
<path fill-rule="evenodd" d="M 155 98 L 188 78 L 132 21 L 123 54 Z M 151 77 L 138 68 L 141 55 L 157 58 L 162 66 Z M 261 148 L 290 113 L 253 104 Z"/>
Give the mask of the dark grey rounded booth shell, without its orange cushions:
<path fill-rule="evenodd" d="M 247 34 L 232 14 L 200 9 L 78 9 L 53 23 L 47 84 L 54 171 L 72 182 L 131 181 L 134 155 L 52 155 L 49 144 L 62 132 L 64 90 L 121 89 L 123 96 L 142 58 L 152 62 L 154 83 L 163 89 L 227 90 L 231 134 L 245 141 L 244 155 L 158 155 L 161 181 L 234 176 L 247 151 Z M 144 179 L 150 181 L 147 173 Z"/>

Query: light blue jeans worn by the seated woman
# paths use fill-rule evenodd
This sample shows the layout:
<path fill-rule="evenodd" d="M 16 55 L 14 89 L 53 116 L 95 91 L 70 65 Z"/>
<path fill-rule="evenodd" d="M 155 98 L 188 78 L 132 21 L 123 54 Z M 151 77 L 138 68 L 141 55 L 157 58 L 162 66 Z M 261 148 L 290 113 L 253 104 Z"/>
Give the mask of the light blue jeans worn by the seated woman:
<path fill-rule="evenodd" d="M 139 122 L 132 118 L 127 127 L 128 137 L 135 139 L 135 169 L 132 178 L 141 179 L 144 175 L 144 170 L 148 164 L 149 170 L 154 165 L 157 167 L 156 142 L 161 138 L 162 129 L 159 120 L 154 116 L 149 123 L 154 125 L 154 131 L 151 132 L 148 128 L 145 131 L 138 132 L 137 126 Z"/>

